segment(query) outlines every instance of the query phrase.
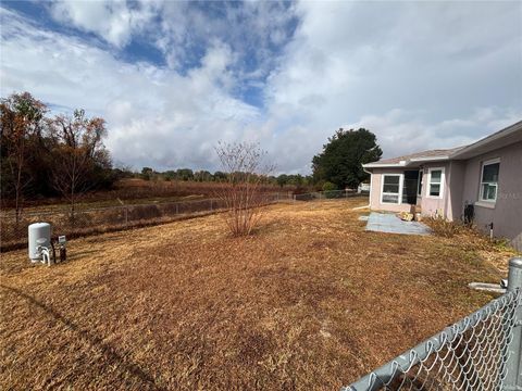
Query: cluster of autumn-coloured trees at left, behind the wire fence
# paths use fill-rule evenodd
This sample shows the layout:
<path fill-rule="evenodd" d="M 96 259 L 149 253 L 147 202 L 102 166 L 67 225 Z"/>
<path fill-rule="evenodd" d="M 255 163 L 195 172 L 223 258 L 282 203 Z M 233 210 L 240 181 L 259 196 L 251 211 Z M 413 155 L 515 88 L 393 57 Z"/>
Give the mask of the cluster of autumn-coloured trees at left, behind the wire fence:
<path fill-rule="evenodd" d="M 103 146 L 105 122 L 84 110 L 50 115 L 28 92 L 0 101 L 1 197 L 14 202 L 16 220 L 24 200 L 62 197 L 74 218 L 77 195 L 108 188 L 115 180 Z"/>

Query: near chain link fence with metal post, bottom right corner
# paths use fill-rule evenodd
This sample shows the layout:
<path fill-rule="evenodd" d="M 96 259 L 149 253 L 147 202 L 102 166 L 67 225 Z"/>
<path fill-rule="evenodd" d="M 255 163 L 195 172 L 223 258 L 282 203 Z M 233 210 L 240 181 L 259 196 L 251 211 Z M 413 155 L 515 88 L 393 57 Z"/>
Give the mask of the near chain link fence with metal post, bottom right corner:
<path fill-rule="evenodd" d="M 522 258 L 508 292 L 344 391 L 522 390 Z"/>

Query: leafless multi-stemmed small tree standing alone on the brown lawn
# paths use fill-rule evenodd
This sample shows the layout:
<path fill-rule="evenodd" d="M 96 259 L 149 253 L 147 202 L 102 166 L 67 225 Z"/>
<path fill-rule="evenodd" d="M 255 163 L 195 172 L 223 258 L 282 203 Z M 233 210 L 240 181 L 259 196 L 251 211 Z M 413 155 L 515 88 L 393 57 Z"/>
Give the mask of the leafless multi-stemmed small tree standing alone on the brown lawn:
<path fill-rule="evenodd" d="M 266 155 L 256 143 L 223 143 L 215 148 L 222 169 L 226 174 L 217 197 L 227 212 L 226 225 L 232 235 L 247 236 L 259 224 L 270 193 L 263 188 L 273 166 L 263 165 Z"/>

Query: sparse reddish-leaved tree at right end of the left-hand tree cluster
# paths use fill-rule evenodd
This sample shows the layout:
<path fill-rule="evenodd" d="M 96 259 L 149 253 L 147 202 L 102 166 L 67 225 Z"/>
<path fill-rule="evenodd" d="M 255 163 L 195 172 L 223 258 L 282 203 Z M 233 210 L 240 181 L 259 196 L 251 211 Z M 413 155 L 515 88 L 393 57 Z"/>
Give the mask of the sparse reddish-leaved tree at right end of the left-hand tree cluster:
<path fill-rule="evenodd" d="M 87 118 L 83 110 L 75 110 L 73 116 L 57 115 L 49 125 L 55 159 L 52 185 L 69 201 L 74 223 L 78 192 L 94 185 L 88 181 L 88 174 L 96 162 L 109 159 L 102 143 L 105 122 Z"/>

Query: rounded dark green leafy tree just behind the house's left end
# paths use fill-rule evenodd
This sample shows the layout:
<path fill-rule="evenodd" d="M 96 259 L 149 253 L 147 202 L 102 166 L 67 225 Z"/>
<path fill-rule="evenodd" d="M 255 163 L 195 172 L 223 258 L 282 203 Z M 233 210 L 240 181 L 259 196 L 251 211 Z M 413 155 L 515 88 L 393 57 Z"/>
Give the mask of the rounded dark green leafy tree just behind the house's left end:
<path fill-rule="evenodd" d="M 340 128 L 312 159 L 314 181 L 330 181 L 339 189 L 357 188 L 369 176 L 362 164 L 375 162 L 383 154 L 376 141 L 368 129 Z"/>

